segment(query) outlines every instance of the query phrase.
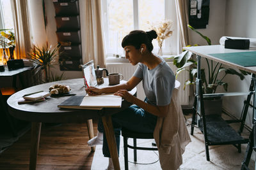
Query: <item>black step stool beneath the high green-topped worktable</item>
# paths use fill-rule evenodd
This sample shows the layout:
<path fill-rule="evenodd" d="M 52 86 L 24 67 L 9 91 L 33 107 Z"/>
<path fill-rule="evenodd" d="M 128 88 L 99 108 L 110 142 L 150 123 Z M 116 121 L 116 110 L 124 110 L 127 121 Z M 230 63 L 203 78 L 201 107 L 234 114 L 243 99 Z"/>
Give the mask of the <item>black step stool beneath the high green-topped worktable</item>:
<path fill-rule="evenodd" d="M 205 95 L 203 95 L 202 93 L 202 80 L 197 79 L 196 81 L 198 81 L 198 94 L 196 94 L 194 101 L 191 135 L 193 135 L 194 132 L 194 126 L 196 124 L 196 115 L 198 115 L 200 117 L 198 126 L 200 127 L 200 130 L 204 134 L 205 152 L 207 160 L 210 160 L 209 146 L 211 145 L 234 145 L 236 146 L 238 152 L 240 153 L 241 144 L 248 143 L 248 139 L 244 139 L 240 135 L 240 133 L 243 131 L 244 121 L 247 112 L 244 113 L 243 118 L 241 120 L 223 120 L 223 118 L 221 118 L 221 115 L 217 114 L 205 115 Z M 235 95 L 230 94 L 230 96 Z M 236 132 L 232 127 L 230 127 L 229 124 L 234 122 L 241 122 L 239 132 Z"/>

